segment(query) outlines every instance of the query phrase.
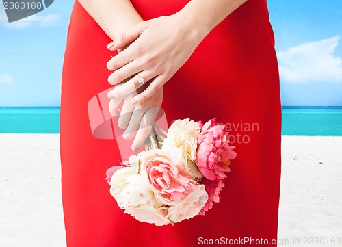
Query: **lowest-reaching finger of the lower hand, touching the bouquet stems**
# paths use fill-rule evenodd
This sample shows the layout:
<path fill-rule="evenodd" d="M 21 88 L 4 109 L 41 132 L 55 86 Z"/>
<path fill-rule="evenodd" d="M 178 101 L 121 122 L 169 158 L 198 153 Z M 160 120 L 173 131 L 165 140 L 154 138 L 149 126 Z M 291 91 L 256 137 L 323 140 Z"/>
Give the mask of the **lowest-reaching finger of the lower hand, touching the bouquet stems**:
<path fill-rule="evenodd" d="M 144 117 L 140 122 L 140 127 L 137 131 L 137 135 L 135 135 L 135 138 L 133 140 L 133 152 L 137 152 L 140 148 L 142 148 L 142 146 L 144 146 L 144 142 L 146 138 L 148 138 L 148 135 L 150 134 L 153 124 L 155 123 L 155 118 L 157 118 L 159 109 L 159 107 L 150 107 L 145 112 Z"/>

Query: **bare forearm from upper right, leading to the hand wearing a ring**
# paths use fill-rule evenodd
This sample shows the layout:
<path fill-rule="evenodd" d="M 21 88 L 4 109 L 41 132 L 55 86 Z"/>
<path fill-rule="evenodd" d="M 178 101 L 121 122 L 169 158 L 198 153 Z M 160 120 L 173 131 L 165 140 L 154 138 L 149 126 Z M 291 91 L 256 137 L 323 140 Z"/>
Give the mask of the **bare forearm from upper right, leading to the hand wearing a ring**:
<path fill-rule="evenodd" d="M 204 38 L 220 22 L 247 0 L 192 0 L 177 14 L 188 27 Z"/>

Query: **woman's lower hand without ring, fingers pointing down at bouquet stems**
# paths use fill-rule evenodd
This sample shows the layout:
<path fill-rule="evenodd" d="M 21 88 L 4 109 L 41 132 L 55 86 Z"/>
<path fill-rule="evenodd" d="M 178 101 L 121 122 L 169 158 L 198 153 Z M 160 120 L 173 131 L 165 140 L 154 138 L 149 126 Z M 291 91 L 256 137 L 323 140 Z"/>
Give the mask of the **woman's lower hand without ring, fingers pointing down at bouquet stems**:
<path fill-rule="evenodd" d="M 124 83 L 118 84 L 114 90 L 119 90 L 122 86 L 124 86 Z M 141 87 L 138 92 L 144 90 L 146 86 Z M 111 115 L 120 115 L 118 125 L 121 129 L 125 129 L 122 137 L 126 140 L 131 140 L 135 137 L 131 146 L 133 152 L 137 152 L 144 146 L 144 141 L 153 127 L 161 102 L 163 101 L 163 87 L 141 105 L 131 104 L 131 99 L 136 94 L 137 92 L 132 92 L 122 98 L 111 99 L 109 102 L 109 112 Z M 122 109 L 119 110 L 122 101 Z"/>

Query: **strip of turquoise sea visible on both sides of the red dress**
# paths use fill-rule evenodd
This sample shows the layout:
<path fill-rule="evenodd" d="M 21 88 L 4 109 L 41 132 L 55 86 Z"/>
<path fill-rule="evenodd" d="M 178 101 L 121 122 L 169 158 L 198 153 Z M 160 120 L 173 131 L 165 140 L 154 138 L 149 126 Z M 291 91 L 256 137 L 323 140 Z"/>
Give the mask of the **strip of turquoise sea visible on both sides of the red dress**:
<path fill-rule="evenodd" d="M 0 133 L 59 133 L 60 107 L 0 107 Z M 283 135 L 342 136 L 342 107 L 283 107 Z"/>

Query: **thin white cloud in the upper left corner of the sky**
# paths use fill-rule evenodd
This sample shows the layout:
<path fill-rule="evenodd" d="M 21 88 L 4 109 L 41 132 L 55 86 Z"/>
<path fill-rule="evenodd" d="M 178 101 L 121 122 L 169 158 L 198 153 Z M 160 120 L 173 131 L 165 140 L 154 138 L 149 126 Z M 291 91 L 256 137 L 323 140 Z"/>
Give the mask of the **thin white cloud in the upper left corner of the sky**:
<path fill-rule="evenodd" d="M 14 21 L 12 23 L 8 23 L 8 19 L 5 15 L 5 12 L 0 12 L 0 24 L 3 27 L 9 29 L 23 29 L 31 26 L 39 26 L 39 27 L 51 27 L 57 25 L 60 20 L 59 14 L 47 14 L 47 15 L 37 15 L 29 16 L 27 18 L 23 18 L 18 21 Z"/>

